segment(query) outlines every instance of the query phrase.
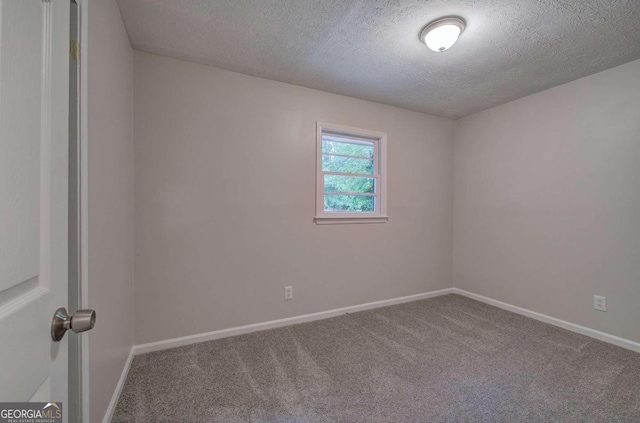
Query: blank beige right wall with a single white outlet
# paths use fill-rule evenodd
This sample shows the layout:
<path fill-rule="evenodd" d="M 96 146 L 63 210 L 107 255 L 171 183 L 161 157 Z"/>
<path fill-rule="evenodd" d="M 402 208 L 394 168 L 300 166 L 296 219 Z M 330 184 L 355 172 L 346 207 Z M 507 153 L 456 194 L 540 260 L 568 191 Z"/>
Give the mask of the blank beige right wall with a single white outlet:
<path fill-rule="evenodd" d="M 640 341 L 640 61 L 456 121 L 454 157 L 456 287 Z"/>

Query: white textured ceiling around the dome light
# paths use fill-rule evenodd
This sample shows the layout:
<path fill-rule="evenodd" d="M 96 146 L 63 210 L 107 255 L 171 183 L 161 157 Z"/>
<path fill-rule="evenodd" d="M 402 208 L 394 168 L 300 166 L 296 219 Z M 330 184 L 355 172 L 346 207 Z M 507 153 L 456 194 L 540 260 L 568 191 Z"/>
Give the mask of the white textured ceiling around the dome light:
<path fill-rule="evenodd" d="M 134 48 L 458 118 L 640 59 L 640 0 L 119 0 Z M 422 27 L 467 29 L 434 53 Z"/>

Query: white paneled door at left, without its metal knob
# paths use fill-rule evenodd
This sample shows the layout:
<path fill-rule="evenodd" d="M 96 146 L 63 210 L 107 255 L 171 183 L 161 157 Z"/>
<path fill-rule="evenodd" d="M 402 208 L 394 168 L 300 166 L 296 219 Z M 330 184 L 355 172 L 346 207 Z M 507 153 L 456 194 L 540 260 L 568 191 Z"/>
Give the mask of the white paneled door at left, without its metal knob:
<path fill-rule="evenodd" d="M 0 0 L 0 401 L 65 415 L 69 1 Z"/>

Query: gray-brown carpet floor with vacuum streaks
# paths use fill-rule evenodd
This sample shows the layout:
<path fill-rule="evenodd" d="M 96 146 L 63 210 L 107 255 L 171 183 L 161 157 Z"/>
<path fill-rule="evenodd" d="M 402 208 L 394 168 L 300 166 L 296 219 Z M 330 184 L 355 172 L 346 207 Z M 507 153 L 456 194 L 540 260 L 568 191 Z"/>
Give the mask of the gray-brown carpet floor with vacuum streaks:
<path fill-rule="evenodd" d="M 113 422 L 640 422 L 640 354 L 446 295 L 137 356 Z"/>

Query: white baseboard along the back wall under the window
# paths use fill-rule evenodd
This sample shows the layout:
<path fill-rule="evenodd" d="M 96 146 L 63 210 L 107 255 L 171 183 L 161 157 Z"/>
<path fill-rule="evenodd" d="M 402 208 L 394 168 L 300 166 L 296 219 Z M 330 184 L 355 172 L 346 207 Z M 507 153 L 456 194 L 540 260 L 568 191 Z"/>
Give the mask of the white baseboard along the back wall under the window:
<path fill-rule="evenodd" d="M 425 298 L 438 297 L 440 295 L 451 294 L 452 288 L 441 289 L 439 291 L 425 292 L 422 294 L 409 295 L 406 297 L 392 298 L 390 300 L 376 301 L 373 303 L 360 304 L 355 306 L 336 308 L 333 310 L 321 311 L 318 313 L 305 314 L 302 316 L 288 317 L 286 319 L 271 320 L 268 322 L 255 323 L 246 326 L 238 326 L 229 329 L 216 330 L 213 332 L 199 333 L 196 335 L 183 336 L 180 338 L 166 339 L 164 341 L 151 342 L 148 344 L 135 345 L 133 347 L 134 355 L 145 354 L 153 351 L 166 350 L 170 348 L 181 347 L 189 344 L 197 344 L 200 342 L 212 341 L 214 339 L 226 338 L 229 336 L 242 335 L 250 332 L 258 332 L 261 330 L 274 329 L 282 326 L 295 325 L 298 323 L 311 322 L 314 320 L 328 319 L 330 317 L 340 316 L 356 311 L 369 310 L 373 308 L 386 307 L 394 304 L 408 303 L 411 301 L 423 300 Z"/>

